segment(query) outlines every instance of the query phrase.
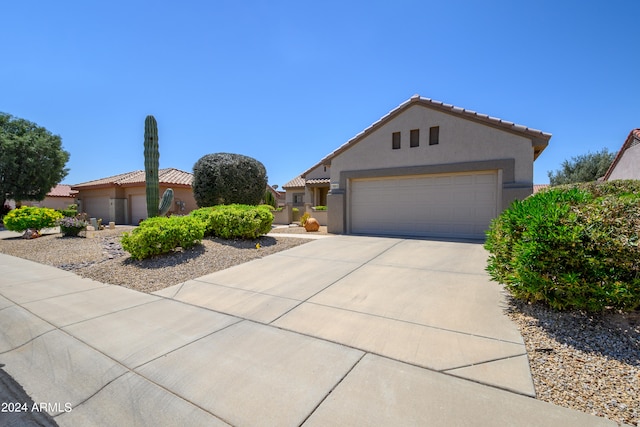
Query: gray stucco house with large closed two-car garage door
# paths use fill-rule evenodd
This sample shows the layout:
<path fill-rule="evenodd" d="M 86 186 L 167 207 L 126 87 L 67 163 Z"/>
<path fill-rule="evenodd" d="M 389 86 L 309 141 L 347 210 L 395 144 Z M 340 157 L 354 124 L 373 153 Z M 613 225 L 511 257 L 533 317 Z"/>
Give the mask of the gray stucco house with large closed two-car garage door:
<path fill-rule="evenodd" d="M 283 187 L 338 234 L 484 238 L 551 134 L 418 95 Z"/>

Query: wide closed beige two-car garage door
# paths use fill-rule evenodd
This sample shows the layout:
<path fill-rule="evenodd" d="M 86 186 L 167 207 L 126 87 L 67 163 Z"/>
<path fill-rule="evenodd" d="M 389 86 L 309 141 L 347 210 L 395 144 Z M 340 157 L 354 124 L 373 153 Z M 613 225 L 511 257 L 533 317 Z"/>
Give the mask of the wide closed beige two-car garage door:
<path fill-rule="evenodd" d="M 497 171 L 350 181 L 354 234 L 483 238 L 498 211 Z"/>

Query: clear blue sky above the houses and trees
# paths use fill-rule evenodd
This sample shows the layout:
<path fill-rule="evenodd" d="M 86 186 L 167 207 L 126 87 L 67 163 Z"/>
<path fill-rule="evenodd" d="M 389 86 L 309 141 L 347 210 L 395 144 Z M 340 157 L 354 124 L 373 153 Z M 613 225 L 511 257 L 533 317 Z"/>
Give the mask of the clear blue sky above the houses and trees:
<path fill-rule="evenodd" d="M 3 2 L 0 111 L 62 137 L 65 183 L 203 155 L 282 186 L 413 94 L 553 134 L 563 160 L 640 127 L 640 2 Z"/>

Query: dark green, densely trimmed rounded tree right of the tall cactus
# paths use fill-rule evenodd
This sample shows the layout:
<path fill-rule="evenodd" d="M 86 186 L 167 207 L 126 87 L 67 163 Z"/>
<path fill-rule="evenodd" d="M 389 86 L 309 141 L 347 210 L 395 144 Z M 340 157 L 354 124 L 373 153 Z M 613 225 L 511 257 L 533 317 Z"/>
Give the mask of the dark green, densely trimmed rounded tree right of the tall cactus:
<path fill-rule="evenodd" d="M 266 186 L 264 165 L 242 154 L 207 154 L 193 166 L 193 195 L 199 207 L 257 205 Z"/>

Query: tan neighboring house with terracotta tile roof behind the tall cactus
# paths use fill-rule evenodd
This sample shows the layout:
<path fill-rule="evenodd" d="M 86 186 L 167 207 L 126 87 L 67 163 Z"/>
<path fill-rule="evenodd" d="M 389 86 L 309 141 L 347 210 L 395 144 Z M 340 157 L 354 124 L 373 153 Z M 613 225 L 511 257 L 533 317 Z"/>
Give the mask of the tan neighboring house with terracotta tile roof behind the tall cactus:
<path fill-rule="evenodd" d="M 193 174 L 168 168 L 158 171 L 160 196 L 167 188 L 174 193 L 170 213 L 187 214 L 197 208 L 191 183 Z M 147 218 L 145 172 L 134 171 L 72 186 L 77 190 L 78 210 L 103 223 L 138 224 Z M 158 202 L 160 202 L 158 200 Z"/>

